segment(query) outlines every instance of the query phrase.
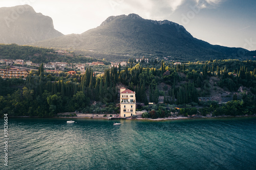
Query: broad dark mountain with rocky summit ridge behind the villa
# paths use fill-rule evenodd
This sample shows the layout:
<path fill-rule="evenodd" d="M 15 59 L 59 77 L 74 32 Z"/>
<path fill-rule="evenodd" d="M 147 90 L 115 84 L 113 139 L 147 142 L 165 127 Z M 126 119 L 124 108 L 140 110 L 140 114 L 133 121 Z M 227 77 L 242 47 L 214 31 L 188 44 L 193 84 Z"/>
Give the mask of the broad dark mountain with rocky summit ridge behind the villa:
<path fill-rule="evenodd" d="M 243 58 L 249 52 L 243 48 L 211 45 L 194 38 L 178 23 L 143 19 L 137 14 L 110 16 L 99 27 L 80 35 L 70 34 L 33 45 L 126 56 L 172 56 L 184 60 Z"/>

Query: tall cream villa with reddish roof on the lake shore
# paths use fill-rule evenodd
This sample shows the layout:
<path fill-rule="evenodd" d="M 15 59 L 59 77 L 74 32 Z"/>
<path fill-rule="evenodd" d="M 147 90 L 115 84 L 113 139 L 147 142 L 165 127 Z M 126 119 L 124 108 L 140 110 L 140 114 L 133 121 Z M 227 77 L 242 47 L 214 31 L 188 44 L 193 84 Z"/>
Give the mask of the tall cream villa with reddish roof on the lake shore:
<path fill-rule="evenodd" d="M 135 92 L 124 87 L 120 88 L 120 117 L 136 115 Z"/>

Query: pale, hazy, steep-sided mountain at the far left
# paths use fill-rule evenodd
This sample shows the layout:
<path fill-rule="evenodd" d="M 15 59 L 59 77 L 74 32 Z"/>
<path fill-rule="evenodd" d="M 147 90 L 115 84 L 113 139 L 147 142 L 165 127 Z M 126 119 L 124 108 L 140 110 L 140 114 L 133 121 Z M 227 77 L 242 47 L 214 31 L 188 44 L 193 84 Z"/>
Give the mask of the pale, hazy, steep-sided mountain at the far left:
<path fill-rule="evenodd" d="M 22 45 L 62 35 L 54 29 L 51 17 L 29 5 L 0 8 L 0 43 Z"/>

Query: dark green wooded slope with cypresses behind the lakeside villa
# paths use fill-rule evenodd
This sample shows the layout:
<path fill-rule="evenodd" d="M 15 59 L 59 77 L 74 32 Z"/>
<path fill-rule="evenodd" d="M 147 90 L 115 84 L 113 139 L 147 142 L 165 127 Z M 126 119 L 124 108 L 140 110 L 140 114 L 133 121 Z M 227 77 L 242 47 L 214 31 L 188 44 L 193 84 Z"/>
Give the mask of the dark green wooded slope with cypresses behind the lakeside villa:
<path fill-rule="evenodd" d="M 38 71 L 30 72 L 27 80 L 0 79 L 0 86 L 4 89 L 10 84 L 14 86 L 8 93 L 0 91 L 1 115 L 51 117 L 58 112 L 76 110 L 117 113 L 115 104 L 119 103 L 121 86 L 135 90 L 136 103 L 145 105 L 140 104 L 138 109 L 151 110 L 144 117 L 166 117 L 174 107 L 181 107 L 179 114 L 182 115 L 255 114 L 254 61 L 211 60 L 178 65 L 164 61 L 159 64 L 157 61 L 135 61 L 130 59 L 124 69 L 106 69 L 102 77 L 95 77 L 90 68 L 83 75 L 51 75 L 41 65 Z M 221 93 L 227 93 L 229 96 L 225 97 L 231 98 L 226 104 L 198 100 L 198 97 L 211 98 L 214 95 L 222 98 Z M 92 105 L 94 101 L 96 105 Z M 148 102 L 155 105 L 149 106 Z"/>

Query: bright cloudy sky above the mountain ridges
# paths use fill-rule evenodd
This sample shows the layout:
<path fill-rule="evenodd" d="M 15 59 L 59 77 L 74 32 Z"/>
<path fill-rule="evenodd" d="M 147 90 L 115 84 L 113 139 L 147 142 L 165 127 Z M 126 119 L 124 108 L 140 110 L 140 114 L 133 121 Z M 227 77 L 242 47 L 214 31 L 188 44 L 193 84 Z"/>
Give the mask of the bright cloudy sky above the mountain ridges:
<path fill-rule="evenodd" d="M 50 16 L 62 34 L 81 34 L 109 16 L 135 13 L 169 20 L 195 38 L 229 47 L 256 50 L 255 0 L 1 0 L 0 7 L 28 4 Z"/>

